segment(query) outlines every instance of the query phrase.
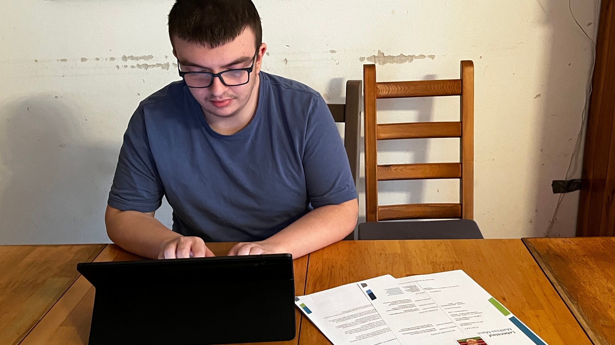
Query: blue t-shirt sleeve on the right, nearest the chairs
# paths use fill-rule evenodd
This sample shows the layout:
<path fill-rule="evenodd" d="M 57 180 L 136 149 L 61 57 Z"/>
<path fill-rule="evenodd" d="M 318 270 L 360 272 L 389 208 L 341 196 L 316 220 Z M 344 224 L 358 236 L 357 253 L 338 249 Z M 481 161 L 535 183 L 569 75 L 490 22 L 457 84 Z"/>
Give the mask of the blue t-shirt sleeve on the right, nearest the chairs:
<path fill-rule="evenodd" d="M 305 138 L 303 170 L 312 207 L 341 204 L 357 198 L 344 143 L 320 95 L 309 109 Z"/>

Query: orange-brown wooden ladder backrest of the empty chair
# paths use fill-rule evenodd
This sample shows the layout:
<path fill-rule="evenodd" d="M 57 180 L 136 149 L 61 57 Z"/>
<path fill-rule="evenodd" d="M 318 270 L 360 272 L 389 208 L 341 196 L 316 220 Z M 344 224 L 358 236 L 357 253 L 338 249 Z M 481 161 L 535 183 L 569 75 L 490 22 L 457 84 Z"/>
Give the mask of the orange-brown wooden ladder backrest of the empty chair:
<path fill-rule="evenodd" d="M 400 219 L 472 219 L 474 213 L 474 63 L 461 61 L 461 79 L 376 82 L 376 66 L 363 65 L 365 83 L 365 204 L 367 222 Z M 459 122 L 376 123 L 376 99 L 461 96 Z M 459 163 L 378 165 L 376 141 L 461 138 Z M 378 206 L 379 180 L 461 179 L 459 203 Z"/>

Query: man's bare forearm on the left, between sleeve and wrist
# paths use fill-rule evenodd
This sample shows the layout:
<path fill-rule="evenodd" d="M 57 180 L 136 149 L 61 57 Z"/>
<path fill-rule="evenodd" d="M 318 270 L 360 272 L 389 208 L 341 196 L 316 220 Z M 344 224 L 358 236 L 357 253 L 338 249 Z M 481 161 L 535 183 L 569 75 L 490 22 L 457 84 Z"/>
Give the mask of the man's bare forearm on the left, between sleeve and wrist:
<path fill-rule="evenodd" d="M 157 258 L 162 242 L 181 237 L 154 218 L 154 212 L 121 211 L 107 206 L 105 223 L 111 241 L 142 257 Z"/>

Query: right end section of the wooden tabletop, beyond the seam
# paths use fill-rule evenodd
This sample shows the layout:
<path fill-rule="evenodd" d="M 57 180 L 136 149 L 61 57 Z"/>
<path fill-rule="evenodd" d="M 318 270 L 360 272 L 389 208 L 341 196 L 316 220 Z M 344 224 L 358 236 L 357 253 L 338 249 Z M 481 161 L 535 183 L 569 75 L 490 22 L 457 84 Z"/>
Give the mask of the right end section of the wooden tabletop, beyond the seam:
<path fill-rule="evenodd" d="M 615 238 L 523 241 L 593 343 L 615 344 Z"/>

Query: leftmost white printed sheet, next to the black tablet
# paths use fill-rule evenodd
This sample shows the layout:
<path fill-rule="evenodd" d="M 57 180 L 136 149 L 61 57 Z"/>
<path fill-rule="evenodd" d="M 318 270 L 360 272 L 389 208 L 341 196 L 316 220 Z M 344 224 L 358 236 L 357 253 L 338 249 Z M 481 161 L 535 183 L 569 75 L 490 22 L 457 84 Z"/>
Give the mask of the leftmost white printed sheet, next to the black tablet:
<path fill-rule="evenodd" d="M 366 282 L 389 282 L 380 276 Z M 333 344 L 399 345 L 370 300 L 356 283 L 295 297 L 296 306 Z"/>

